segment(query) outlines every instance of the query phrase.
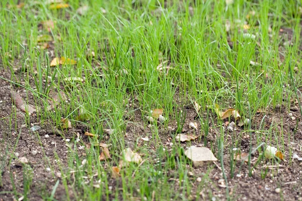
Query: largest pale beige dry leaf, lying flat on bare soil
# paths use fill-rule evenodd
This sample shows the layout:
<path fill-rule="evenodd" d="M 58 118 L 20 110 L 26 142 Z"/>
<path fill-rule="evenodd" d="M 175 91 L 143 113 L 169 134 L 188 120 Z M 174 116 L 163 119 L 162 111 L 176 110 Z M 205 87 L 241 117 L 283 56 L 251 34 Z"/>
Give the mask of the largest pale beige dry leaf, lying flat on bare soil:
<path fill-rule="evenodd" d="M 185 151 L 185 155 L 192 160 L 194 166 L 202 166 L 210 161 L 217 161 L 214 154 L 206 147 L 191 146 Z"/>

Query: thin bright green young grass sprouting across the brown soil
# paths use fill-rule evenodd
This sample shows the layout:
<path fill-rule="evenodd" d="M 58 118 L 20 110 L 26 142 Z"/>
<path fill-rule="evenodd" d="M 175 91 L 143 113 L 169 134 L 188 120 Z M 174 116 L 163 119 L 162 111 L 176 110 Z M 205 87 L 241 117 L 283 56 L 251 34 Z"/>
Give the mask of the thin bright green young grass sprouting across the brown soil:
<path fill-rule="evenodd" d="M 290 100 L 299 99 L 302 84 L 298 9 L 301 4 L 291 0 L 240 0 L 231 5 L 211 0 L 195 1 L 195 4 L 176 0 L 169 3 L 166 8 L 164 1 L 155 0 L 70 1 L 69 8 L 59 10 L 50 10 L 49 5 L 39 1 L 26 1 L 21 9 L 7 7 L 16 5 L 16 1 L 0 3 L 0 67 L 11 73 L 13 85 L 22 85 L 28 97 L 34 96 L 31 104 L 40 109 L 36 122 L 41 122 L 40 126 L 51 124 L 61 128 L 61 118 L 68 118 L 72 127 L 85 124 L 99 141 L 111 144 L 112 160 L 105 162 L 98 160 L 99 147 L 91 146 L 85 149 L 85 157 L 80 156 L 78 148 L 86 142 L 81 138 L 78 142 L 77 136 L 70 140 L 72 146 L 64 163 L 59 160 L 62 150 L 55 150 L 61 173 L 59 183 L 65 187 L 66 200 L 130 200 L 134 197 L 185 200 L 193 196 L 191 191 L 198 199 L 204 189 L 211 198 L 215 185 L 208 184 L 212 167 L 200 174 L 203 180 L 193 186 L 188 172 L 194 167 L 183 155 L 184 145 L 173 138 L 174 145 L 168 148 L 162 134 L 162 130 L 169 130 L 168 126 L 175 124 L 180 133 L 187 116 L 186 107 L 192 107 L 195 101 L 201 106 L 197 114 L 200 119 L 196 120 L 200 121 L 201 134 L 208 135 L 209 124 L 219 134 L 214 142 L 202 136 L 197 142 L 212 149 L 223 170 L 223 163 L 231 163 L 232 177 L 238 174 L 239 168 L 233 159 L 222 158 L 225 152 L 240 148 L 242 135 L 248 134 L 251 141 L 252 135 L 256 135 L 257 146 L 264 136 L 267 144 L 282 152 L 292 141 L 291 133 L 282 133 L 281 139 L 276 137 L 279 122 L 271 122 L 267 128 L 251 121 L 240 136 L 234 136 L 230 142 L 230 133 L 224 133 L 224 122 L 217 121 L 212 106 L 235 108 L 244 119 L 250 120 L 258 110 L 284 103 L 289 111 Z M 81 16 L 76 11 L 83 5 L 89 5 L 90 9 Z M 56 22 L 50 32 L 41 28 L 40 23 L 46 20 Z M 284 28 L 293 32 L 291 41 L 281 35 L 280 29 Z M 53 38 L 48 51 L 37 47 L 41 34 Z M 49 66 L 54 57 L 61 56 L 77 64 Z M 252 65 L 250 61 L 257 64 Z M 162 71 L 157 70 L 160 63 L 164 66 Z M 168 71 L 168 67 L 172 68 Z M 21 73 L 16 73 L 16 68 L 21 69 Z M 84 81 L 66 81 L 68 77 L 81 77 Z M 50 92 L 56 89 L 64 90 L 68 100 L 49 111 Z M 155 108 L 164 109 L 164 116 L 168 118 L 164 126 L 154 124 L 150 133 L 135 133 L 130 140 L 144 163 L 130 164 L 121 171 L 120 179 L 112 179 L 110 168 L 118 164 L 119 153 L 128 146 L 126 129 L 133 126 L 147 130 L 144 116 Z M 80 109 L 90 117 L 89 121 L 77 118 Z M 17 129 L 16 113 L 16 109 L 12 109 L 9 125 L 12 130 Z M 141 114 L 139 121 L 137 113 Z M 136 121 L 132 121 L 134 119 Z M 29 116 L 26 121 L 30 122 Z M 104 128 L 112 128 L 114 133 L 105 138 Z M 150 141 L 139 145 L 140 137 L 145 136 L 149 136 Z M 97 138 L 90 141 L 95 143 Z M 43 147 L 41 141 L 40 144 Z M 83 165 L 84 159 L 87 162 Z M 45 153 L 42 160 L 54 175 L 57 166 L 52 167 Z M 266 159 L 262 155 L 258 161 L 265 163 Z M 250 175 L 257 164 L 252 165 L 249 157 Z M 31 171 L 23 167 L 25 198 L 32 190 Z M 266 169 L 261 171 L 266 175 Z M 224 174 L 224 177 L 227 176 Z M 2 182 L 0 174 L 0 185 Z M 99 188 L 94 187 L 96 184 Z M 52 191 L 41 191 L 40 196 L 54 200 L 57 187 L 58 183 Z M 228 190 L 225 196 L 232 199 Z M 14 193 L 17 196 L 17 191 Z"/>

